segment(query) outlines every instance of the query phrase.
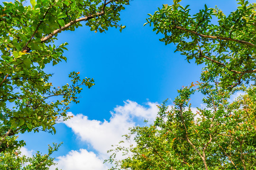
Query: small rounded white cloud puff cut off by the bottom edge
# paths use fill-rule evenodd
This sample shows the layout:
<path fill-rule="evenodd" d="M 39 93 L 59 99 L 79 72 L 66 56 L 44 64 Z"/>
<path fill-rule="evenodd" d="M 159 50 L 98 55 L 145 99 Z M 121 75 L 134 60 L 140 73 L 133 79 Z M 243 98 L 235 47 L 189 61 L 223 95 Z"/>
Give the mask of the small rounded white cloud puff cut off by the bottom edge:
<path fill-rule="evenodd" d="M 56 163 L 58 163 L 57 166 L 51 167 L 51 170 L 56 167 L 62 170 L 108 170 L 95 153 L 88 152 L 86 149 L 70 151 L 65 156 L 59 156 Z"/>

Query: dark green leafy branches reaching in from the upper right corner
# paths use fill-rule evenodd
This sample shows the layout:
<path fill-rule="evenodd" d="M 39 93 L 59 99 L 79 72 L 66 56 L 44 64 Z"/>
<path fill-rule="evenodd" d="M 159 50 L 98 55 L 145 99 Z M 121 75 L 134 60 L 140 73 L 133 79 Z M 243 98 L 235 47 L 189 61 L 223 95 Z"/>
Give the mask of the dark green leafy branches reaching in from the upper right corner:
<path fill-rule="evenodd" d="M 220 76 L 225 88 L 255 81 L 256 4 L 239 0 L 240 6 L 229 16 L 205 5 L 192 15 L 189 5 L 183 7 L 180 1 L 148 14 L 146 24 L 153 24 L 153 31 L 164 35 L 160 41 L 176 44 L 176 51 L 188 61 L 205 64 L 202 80 Z"/>

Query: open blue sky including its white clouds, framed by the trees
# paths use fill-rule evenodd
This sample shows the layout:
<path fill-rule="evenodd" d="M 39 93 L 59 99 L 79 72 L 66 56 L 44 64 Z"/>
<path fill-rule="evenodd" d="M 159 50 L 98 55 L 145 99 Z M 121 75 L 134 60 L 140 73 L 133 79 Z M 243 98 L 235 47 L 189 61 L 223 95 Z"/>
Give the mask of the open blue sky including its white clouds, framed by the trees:
<path fill-rule="evenodd" d="M 74 119 L 57 124 L 56 135 L 19 135 L 27 142 L 24 153 L 46 153 L 47 144 L 64 142 L 54 153 L 63 170 L 69 170 L 68 166 L 73 170 L 105 170 L 105 151 L 128 132 L 128 127 L 143 119 L 153 121 L 157 103 L 167 98 L 174 100 L 177 89 L 200 80 L 202 66 L 189 64 L 184 56 L 174 53 L 174 44 L 165 46 L 159 41 L 161 34 L 152 32 L 153 27 L 143 26 L 147 14 L 162 4 L 172 5 L 172 0 L 132 1 L 121 12 L 120 22 L 127 26 L 122 33 L 115 28 L 106 34 L 94 33 L 83 26 L 58 35 L 56 44 L 68 42 L 69 51 L 64 52 L 66 63 L 45 68 L 54 73 L 53 85 L 69 83 L 68 74 L 72 71 L 94 78 L 95 85 L 91 89 L 84 87 L 80 103 L 70 105 Z M 181 4 L 190 5 L 192 13 L 204 8 L 204 4 L 209 8 L 217 5 L 226 15 L 237 7 L 236 0 L 182 0 Z M 200 107 L 201 96 L 194 96 L 192 103 L 193 107 Z M 75 160 L 82 163 L 75 167 Z"/>

